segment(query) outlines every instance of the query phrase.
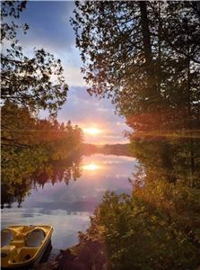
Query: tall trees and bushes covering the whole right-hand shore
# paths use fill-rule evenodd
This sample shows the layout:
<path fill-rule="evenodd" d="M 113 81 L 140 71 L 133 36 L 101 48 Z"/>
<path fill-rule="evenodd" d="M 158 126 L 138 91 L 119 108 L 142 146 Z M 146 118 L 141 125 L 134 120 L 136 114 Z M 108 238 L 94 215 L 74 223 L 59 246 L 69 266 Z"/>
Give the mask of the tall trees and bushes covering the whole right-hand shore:
<path fill-rule="evenodd" d="M 106 193 L 80 235 L 79 249 L 99 242 L 108 269 L 199 267 L 198 6 L 76 2 L 88 91 L 112 98 L 126 116 L 139 161 L 133 193 Z"/>

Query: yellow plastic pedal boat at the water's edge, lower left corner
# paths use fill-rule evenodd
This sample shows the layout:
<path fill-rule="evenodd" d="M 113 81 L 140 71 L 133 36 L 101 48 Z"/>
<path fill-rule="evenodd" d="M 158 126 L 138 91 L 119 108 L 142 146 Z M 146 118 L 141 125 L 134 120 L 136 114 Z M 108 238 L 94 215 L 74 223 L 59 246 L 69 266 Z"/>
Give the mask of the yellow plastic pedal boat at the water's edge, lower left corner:
<path fill-rule="evenodd" d="M 39 263 L 51 241 L 53 227 L 10 226 L 1 231 L 1 267 L 26 268 Z"/>

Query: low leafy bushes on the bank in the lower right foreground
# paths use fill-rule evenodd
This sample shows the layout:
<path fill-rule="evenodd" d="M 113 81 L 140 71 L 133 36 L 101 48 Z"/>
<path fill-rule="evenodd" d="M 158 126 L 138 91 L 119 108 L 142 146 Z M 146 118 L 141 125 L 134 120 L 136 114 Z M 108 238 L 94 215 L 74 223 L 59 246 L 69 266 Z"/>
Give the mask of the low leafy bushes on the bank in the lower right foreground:
<path fill-rule="evenodd" d="M 107 269 L 195 270 L 199 211 L 199 193 L 181 184 L 157 181 L 132 196 L 106 193 L 79 245 L 103 241 Z"/>

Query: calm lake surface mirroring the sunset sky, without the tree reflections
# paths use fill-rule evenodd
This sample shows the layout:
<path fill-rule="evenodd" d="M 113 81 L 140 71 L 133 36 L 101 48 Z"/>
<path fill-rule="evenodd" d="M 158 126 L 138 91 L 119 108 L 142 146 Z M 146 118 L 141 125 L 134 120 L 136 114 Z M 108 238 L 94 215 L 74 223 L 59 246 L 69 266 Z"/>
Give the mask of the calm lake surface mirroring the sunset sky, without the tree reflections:
<path fill-rule="evenodd" d="M 135 171 L 134 157 L 83 157 L 82 175 L 76 181 L 36 184 L 18 208 L 2 210 L 2 227 L 12 224 L 51 224 L 54 248 L 77 243 L 77 232 L 87 229 L 90 216 L 106 190 L 130 193 L 128 181 Z"/>

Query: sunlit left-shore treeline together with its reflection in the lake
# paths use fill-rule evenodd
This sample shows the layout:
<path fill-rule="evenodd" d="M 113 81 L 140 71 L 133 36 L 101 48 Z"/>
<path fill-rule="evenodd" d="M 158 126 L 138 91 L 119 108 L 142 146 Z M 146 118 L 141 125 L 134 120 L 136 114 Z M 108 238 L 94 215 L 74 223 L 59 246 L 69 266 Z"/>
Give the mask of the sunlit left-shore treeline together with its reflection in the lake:
<path fill-rule="evenodd" d="M 40 182 L 42 185 L 49 178 L 52 183 L 57 182 L 58 175 L 66 184 L 71 178 L 79 177 L 82 143 L 82 130 L 70 121 L 60 124 L 56 120 L 40 120 L 33 117 L 27 107 L 4 103 L 1 152 L 3 205 L 10 205 L 13 198 L 21 205 L 23 197 L 30 191 L 33 175 L 38 179 L 47 175 Z M 60 160 L 63 160 L 63 165 L 58 169 L 54 164 Z"/>

